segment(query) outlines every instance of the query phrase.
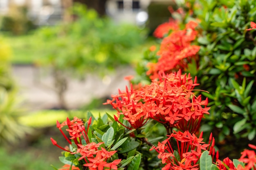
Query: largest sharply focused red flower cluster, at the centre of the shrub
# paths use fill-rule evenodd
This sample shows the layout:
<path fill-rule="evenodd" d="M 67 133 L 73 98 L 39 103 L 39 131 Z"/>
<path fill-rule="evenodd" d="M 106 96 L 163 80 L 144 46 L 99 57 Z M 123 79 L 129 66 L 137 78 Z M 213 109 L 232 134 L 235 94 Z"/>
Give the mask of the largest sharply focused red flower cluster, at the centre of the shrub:
<path fill-rule="evenodd" d="M 112 100 L 104 104 L 111 104 L 118 114 L 124 114 L 124 119 L 135 129 L 152 118 L 166 127 L 196 133 L 203 114 L 209 114 L 208 100 L 202 101 L 201 96 L 196 97 L 191 92 L 198 85 L 196 78 L 192 81 L 192 77 L 181 74 L 181 70 L 159 74 L 158 78 L 139 89 L 131 86 L 130 91 L 127 87 L 124 92 L 119 90 L 118 95 L 112 95 Z"/>

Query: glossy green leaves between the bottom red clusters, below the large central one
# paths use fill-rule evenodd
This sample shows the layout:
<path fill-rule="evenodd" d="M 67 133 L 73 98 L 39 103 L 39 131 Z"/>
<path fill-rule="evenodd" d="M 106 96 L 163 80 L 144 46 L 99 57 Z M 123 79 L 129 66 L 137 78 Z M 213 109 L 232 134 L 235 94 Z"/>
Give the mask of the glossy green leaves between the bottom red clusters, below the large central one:
<path fill-rule="evenodd" d="M 117 150 L 112 155 L 112 159 L 122 159 L 121 170 L 124 169 L 150 169 L 158 170 L 161 166 L 159 159 L 157 159 L 157 152 L 150 151 L 150 144 L 157 145 L 159 139 L 164 138 L 166 135 L 166 129 L 163 125 L 154 123 L 154 121 L 148 121 L 147 125 L 139 129 L 127 129 L 124 126 L 129 126 L 129 122 L 123 119 L 124 115 L 120 115 L 118 121 L 115 121 L 112 115 L 106 113 L 101 114 L 98 117 L 94 117 L 91 112 L 88 112 L 85 122 L 85 128 L 88 126 L 89 119 L 91 119 L 88 136 L 88 142 L 103 142 L 102 148 L 106 150 Z M 123 126 L 124 125 L 124 126 Z M 65 126 L 66 127 L 66 126 Z M 81 137 L 82 138 L 82 137 Z M 148 143 L 145 143 L 147 141 Z M 85 140 L 84 140 L 85 142 Z M 76 150 L 77 146 L 75 142 L 69 145 L 70 150 Z M 84 159 L 79 160 L 81 155 L 70 154 L 69 152 L 62 152 L 60 161 L 64 164 L 73 164 L 80 169 L 85 164 Z M 103 159 L 102 159 L 103 160 Z"/>

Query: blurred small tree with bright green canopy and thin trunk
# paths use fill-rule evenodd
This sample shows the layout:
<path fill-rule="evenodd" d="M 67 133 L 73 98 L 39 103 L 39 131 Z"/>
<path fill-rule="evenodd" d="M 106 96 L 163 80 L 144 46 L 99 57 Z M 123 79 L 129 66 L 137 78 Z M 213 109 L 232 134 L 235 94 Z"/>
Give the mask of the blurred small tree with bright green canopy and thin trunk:
<path fill-rule="evenodd" d="M 36 64 L 52 69 L 64 109 L 67 108 L 63 97 L 67 76 L 83 77 L 88 72 L 104 74 L 106 70 L 132 63 L 136 56 L 128 51 L 144 42 L 146 36 L 146 32 L 136 26 L 115 24 L 82 5 L 74 5 L 72 11 L 76 16 L 74 22 L 40 28 L 34 37 L 38 53 L 43 54 Z"/>

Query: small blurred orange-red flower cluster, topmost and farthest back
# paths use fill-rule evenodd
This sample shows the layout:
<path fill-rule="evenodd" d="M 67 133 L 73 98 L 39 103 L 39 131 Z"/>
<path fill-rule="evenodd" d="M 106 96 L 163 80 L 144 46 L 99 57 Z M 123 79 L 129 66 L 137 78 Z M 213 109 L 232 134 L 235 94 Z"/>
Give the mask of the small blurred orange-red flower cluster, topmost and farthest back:
<path fill-rule="evenodd" d="M 157 28 L 155 29 L 153 35 L 156 38 L 163 38 L 164 35 L 168 35 L 168 33 L 173 30 L 178 30 L 179 29 L 179 25 L 177 23 L 176 20 L 170 20 L 169 22 L 165 22 L 163 24 L 160 24 L 159 26 L 157 26 Z"/>

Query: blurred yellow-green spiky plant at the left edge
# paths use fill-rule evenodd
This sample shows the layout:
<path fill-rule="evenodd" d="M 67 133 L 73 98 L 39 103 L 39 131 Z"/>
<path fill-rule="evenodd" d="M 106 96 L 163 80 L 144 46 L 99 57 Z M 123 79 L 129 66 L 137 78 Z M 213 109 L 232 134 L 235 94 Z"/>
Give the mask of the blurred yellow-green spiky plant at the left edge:
<path fill-rule="evenodd" d="M 9 56 L 11 49 L 4 39 L 0 41 L 0 144 L 15 143 L 31 129 L 18 122 L 25 115 L 17 97 L 16 85 L 11 77 Z"/>

